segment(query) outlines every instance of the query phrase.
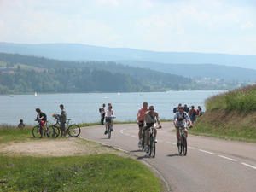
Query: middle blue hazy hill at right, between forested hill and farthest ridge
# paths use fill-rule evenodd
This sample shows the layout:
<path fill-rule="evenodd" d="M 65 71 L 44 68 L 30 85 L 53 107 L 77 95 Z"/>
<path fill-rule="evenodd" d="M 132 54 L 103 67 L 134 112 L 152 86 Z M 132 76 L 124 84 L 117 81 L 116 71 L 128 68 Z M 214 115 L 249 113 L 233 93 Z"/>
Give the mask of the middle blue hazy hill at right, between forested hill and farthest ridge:
<path fill-rule="evenodd" d="M 237 82 L 256 82 L 256 70 L 212 64 L 163 64 L 147 61 L 120 61 L 132 67 L 146 67 L 155 71 L 182 75 L 188 78 L 212 78 Z"/>

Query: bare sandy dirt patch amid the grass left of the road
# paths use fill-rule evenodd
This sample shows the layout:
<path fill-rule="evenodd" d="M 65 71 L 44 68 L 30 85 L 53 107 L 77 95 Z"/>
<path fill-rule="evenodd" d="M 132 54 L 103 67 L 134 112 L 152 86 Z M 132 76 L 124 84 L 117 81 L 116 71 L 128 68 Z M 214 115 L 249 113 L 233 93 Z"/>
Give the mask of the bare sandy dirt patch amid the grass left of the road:
<path fill-rule="evenodd" d="M 84 141 L 79 138 L 64 138 L 1 144 L 0 153 L 31 156 L 73 156 L 117 152 L 112 148 L 103 147 L 98 143 Z"/>

